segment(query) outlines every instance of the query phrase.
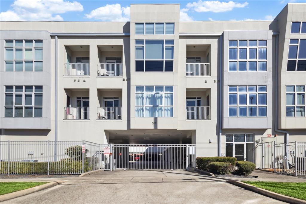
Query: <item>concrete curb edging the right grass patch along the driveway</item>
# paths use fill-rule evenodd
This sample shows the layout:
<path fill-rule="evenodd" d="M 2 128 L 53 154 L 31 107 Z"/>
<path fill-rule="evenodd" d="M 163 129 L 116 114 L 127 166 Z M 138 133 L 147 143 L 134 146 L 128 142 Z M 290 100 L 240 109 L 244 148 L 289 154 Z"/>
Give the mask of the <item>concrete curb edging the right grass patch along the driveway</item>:
<path fill-rule="evenodd" d="M 247 184 L 247 183 L 243 183 L 241 181 L 227 180 L 226 182 L 230 183 L 230 184 L 233 184 L 233 185 L 236 185 L 236 186 L 239 186 L 239 187 L 242 187 L 242 188 L 245 188 L 249 191 L 253 191 L 255 193 L 259 193 L 261 195 L 264 195 L 264 196 L 267 196 L 267 197 L 270 197 L 270 198 L 274 198 L 276 200 L 280 200 L 280 201 L 284 201 L 284 202 L 288 202 L 288 203 L 292 203 L 292 204 L 300 204 L 300 203 L 305 203 L 306 204 L 306 201 L 304 201 L 304 200 L 301 200 L 301 199 L 298 199 L 298 198 L 292 198 L 292 197 L 289 197 L 289 196 L 286 196 L 286 195 L 281 195 L 281 194 L 278 194 L 278 193 L 274 193 L 272 191 L 268 191 L 268 190 L 265 190 L 265 189 L 262 189 L 262 188 L 259 188 L 259 187 L 256 187 L 256 186 L 252 186 L 252 185 Z"/>

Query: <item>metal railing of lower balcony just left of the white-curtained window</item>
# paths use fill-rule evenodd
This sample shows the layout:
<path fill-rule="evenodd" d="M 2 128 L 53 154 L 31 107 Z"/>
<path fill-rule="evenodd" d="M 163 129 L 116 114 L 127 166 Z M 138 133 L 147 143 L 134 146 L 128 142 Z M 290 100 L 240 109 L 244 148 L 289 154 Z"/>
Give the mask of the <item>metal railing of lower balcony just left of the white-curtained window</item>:
<path fill-rule="evenodd" d="M 122 107 L 98 107 L 98 120 L 122 120 Z"/>

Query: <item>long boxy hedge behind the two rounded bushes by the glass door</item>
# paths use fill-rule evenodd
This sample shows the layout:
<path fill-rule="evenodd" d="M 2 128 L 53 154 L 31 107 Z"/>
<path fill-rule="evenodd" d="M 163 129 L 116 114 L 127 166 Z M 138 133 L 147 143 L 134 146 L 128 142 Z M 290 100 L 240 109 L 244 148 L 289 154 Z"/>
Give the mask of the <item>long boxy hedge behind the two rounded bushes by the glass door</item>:
<path fill-rule="evenodd" d="M 236 161 L 236 157 L 196 157 L 197 168 L 204 171 L 208 171 L 208 165 L 211 162 L 229 162 L 235 166 Z"/>

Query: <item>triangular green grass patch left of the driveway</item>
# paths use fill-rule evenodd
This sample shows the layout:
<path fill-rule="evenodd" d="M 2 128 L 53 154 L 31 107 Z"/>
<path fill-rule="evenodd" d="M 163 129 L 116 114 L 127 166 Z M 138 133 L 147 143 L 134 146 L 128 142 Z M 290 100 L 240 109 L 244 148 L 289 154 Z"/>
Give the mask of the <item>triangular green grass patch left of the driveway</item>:
<path fill-rule="evenodd" d="M 0 195 L 39 186 L 48 182 L 0 182 Z"/>

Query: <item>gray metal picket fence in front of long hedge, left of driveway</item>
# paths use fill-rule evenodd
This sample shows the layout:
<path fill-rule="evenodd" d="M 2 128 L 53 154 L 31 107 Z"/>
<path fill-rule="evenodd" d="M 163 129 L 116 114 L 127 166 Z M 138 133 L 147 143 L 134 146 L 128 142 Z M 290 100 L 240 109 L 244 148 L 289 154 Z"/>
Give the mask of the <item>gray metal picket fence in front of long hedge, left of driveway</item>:
<path fill-rule="evenodd" d="M 1 141 L 0 174 L 81 174 L 100 169 L 100 144 L 88 141 Z"/>

